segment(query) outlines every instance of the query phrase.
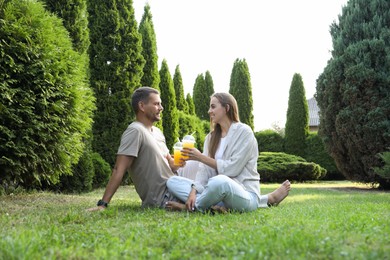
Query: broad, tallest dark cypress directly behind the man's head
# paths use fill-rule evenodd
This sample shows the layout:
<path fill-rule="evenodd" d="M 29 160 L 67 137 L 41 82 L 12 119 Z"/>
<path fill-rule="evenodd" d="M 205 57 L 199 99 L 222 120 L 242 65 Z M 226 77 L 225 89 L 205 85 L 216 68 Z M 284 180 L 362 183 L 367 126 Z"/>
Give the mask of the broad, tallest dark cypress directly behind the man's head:
<path fill-rule="evenodd" d="M 120 137 L 135 116 L 131 94 L 140 86 L 145 60 L 131 0 L 90 0 L 88 12 L 97 104 L 93 148 L 113 166 Z"/>

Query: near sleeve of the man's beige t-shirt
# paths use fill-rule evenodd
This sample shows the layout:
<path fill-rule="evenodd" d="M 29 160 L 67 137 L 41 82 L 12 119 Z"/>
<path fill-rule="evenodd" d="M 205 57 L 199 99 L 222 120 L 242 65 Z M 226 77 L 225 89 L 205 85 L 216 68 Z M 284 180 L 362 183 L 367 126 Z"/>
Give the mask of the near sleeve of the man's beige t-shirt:
<path fill-rule="evenodd" d="M 138 157 L 138 151 L 142 143 L 142 134 L 139 129 L 129 127 L 122 134 L 121 144 L 118 149 L 119 155 Z"/>

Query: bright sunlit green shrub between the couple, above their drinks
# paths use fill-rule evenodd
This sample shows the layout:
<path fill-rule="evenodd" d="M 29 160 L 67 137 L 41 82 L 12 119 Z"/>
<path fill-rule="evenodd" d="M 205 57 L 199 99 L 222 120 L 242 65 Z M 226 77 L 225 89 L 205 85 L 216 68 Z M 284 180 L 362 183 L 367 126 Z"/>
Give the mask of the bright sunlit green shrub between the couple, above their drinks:
<path fill-rule="evenodd" d="M 200 120 L 194 115 L 188 115 L 183 111 L 178 111 L 179 116 L 179 138 L 195 132 L 196 148 L 203 150 L 203 143 L 206 135 L 210 131 L 209 122 Z"/>

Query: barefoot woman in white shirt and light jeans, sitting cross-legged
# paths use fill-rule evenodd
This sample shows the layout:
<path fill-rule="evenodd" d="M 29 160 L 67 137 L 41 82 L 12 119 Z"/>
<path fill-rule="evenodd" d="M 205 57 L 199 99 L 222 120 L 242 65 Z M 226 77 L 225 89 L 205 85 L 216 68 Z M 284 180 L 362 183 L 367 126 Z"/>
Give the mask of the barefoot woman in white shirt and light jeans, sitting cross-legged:
<path fill-rule="evenodd" d="M 239 122 L 234 97 L 228 93 L 213 94 L 209 115 L 212 131 L 206 136 L 204 153 L 196 148 L 183 151 L 187 160 L 200 162 L 195 182 L 180 176 L 167 181 L 168 190 L 185 204 L 169 201 L 166 207 L 204 211 L 223 205 L 220 209 L 244 212 L 280 203 L 290 191 L 290 182 L 260 196 L 257 141 L 252 129 Z"/>

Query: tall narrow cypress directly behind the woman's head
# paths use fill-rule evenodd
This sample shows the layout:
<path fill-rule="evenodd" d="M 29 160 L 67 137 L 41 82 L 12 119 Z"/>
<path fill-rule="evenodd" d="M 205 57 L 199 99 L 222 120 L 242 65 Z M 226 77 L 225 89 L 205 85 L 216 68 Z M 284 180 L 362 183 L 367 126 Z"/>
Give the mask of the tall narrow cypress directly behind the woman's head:
<path fill-rule="evenodd" d="M 236 59 L 230 76 L 230 89 L 236 100 L 240 121 L 254 128 L 252 85 L 245 59 Z"/>

